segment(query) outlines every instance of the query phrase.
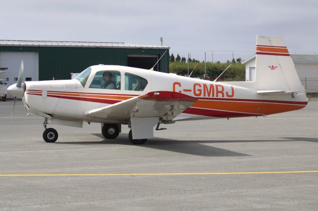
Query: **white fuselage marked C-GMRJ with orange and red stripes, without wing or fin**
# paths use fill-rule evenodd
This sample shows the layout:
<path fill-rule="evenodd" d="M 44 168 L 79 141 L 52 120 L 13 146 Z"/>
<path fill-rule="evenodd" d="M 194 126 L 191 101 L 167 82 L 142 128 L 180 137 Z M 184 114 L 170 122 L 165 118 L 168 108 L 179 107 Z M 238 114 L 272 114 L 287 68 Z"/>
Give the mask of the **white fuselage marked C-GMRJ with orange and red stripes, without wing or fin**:
<path fill-rule="evenodd" d="M 92 119 L 85 112 L 154 91 L 179 92 L 198 99 L 174 120 L 269 115 L 301 109 L 308 103 L 304 93 L 293 97 L 259 95 L 256 91 L 263 88 L 255 82 L 212 82 L 114 65 L 96 65 L 89 71 L 86 78 L 25 82 L 22 99 L 27 112 L 88 122 L 127 123 Z M 116 89 L 99 86 L 102 71 L 116 72 Z"/>

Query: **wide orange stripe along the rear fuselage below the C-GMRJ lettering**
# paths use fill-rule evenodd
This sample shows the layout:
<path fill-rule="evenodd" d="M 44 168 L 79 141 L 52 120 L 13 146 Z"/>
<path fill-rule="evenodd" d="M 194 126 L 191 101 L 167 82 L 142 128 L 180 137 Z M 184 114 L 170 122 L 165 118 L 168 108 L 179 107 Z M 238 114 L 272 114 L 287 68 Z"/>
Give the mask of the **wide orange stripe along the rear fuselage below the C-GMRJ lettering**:
<path fill-rule="evenodd" d="M 197 101 L 191 107 L 226 110 L 233 112 L 273 114 L 291 110 L 298 110 L 305 105 L 282 105 L 271 103 L 250 103 L 250 102 L 224 102 L 224 101 Z"/>

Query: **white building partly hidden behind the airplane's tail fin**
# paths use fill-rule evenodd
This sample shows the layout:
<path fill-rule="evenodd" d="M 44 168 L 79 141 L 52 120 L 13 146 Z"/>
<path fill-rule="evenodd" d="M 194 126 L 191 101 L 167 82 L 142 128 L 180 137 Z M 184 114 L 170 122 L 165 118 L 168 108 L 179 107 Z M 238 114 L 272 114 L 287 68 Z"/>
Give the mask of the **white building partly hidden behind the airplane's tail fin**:
<path fill-rule="evenodd" d="M 308 93 L 318 92 L 318 55 L 291 54 L 298 76 Z M 253 55 L 243 61 L 245 80 L 255 80 L 255 58 Z"/>

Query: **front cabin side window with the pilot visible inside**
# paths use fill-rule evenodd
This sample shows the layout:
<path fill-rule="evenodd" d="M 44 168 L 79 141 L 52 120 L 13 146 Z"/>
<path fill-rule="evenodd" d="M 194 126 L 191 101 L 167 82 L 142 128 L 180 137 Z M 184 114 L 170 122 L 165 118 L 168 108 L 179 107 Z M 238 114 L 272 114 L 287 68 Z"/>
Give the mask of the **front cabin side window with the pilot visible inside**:
<path fill-rule="evenodd" d="M 89 88 L 120 90 L 120 72 L 115 70 L 103 70 L 96 72 Z"/>

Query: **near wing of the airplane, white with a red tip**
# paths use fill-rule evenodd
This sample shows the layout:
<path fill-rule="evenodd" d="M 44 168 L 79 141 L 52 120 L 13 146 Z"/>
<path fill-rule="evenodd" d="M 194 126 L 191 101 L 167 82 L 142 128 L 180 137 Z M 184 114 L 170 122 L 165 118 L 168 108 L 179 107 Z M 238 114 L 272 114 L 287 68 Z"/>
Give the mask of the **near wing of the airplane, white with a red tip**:
<path fill-rule="evenodd" d="M 85 112 L 94 119 L 105 122 L 129 122 L 131 117 L 159 117 L 162 121 L 171 121 L 190 107 L 197 99 L 177 92 L 158 91 L 137 96 L 110 106 Z"/>

